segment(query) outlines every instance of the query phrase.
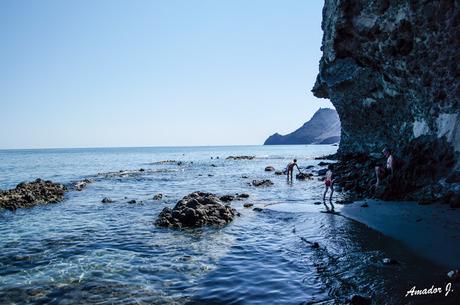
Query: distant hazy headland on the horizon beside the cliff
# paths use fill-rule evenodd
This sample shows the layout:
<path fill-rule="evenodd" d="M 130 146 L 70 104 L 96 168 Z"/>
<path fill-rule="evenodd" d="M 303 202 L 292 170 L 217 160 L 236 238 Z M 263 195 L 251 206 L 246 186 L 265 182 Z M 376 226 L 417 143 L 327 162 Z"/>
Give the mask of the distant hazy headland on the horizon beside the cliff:
<path fill-rule="evenodd" d="M 275 133 L 264 145 L 333 144 L 340 142 L 340 119 L 337 111 L 320 108 L 310 121 L 287 135 Z"/>

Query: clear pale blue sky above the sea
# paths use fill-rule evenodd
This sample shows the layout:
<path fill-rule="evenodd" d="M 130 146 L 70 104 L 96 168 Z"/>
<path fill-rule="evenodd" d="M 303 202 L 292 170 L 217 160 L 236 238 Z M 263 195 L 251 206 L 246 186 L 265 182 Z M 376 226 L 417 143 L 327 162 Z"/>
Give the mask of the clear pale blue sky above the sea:
<path fill-rule="evenodd" d="M 323 1 L 0 1 L 0 148 L 262 144 L 310 92 Z"/>

